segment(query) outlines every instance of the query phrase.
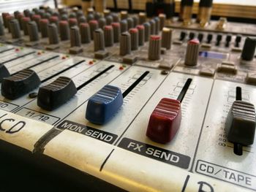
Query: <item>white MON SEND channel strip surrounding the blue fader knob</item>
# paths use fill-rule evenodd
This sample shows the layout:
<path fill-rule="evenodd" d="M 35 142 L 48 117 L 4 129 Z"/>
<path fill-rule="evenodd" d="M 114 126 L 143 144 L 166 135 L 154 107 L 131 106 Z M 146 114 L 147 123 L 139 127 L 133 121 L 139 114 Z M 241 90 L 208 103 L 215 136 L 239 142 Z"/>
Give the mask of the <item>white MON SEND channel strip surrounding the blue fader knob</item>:
<path fill-rule="evenodd" d="M 129 70 L 124 72 L 121 77 L 118 77 L 116 80 L 113 80 L 113 82 L 110 82 L 109 85 L 121 88 L 121 91 L 124 93 L 127 88 L 138 80 L 138 78 L 142 77 L 141 75 L 144 72 L 142 69 L 143 68 L 140 66 L 132 66 Z M 149 74 L 147 74 L 146 77 L 144 77 L 143 80 L 140 81 L 139 84 L 132 89 L 127 96 L 125 96 L 124 104 L 121 106 L 118 112 L 115 113 L 112 120 L 110 120 L 104 126 L 97 126 L 93 123 L 89 123 L 89 121 L 86 120 L 85 113 L 86 106 L 88 104 L 87 101 L 83 105 L 80 105 L 80 107 L 78 107 L 75 111 L 70 113 L 64 121 L 59 123 L 59 126 L 57 127 L 64 128 L 63 126 L 66 124 L 70 126 L 80 126 L 84 130 L 90 131 L 88 131 L 86 134 L 86 132 L 79 132 L 78 130 L 72 130 L 72 128 L 70 129 L 69 127 L 66 127 L 67 130 L 65 130 L 63 134 L 68 135 L 70 131 L 75 131 L 77 132 L 76 134 L 86 134 L 86 136 L 83 135 L 83 137 L 89 136 L 93 137 L 94 139 L 99 139 L 103 142 L 113 144 L 116 139 L 123 134 L 133 118 L 138 115 L 138 112 L 140 112 L 143 105 L 146 104 L 146 101 L 148 101 L 162 81 L 165 80 L 165 75 L 158 75 L 161 71 L 157 69 L 149 69 L 148 71 Z M 95 135 L 98 135 L 98 137 L 92 134 L 94 132 Z M 100 139 L 99 135 L 104 135 L 105 137 L 108 137 L 108 139 L 104 139 L 105 137 Z"/>

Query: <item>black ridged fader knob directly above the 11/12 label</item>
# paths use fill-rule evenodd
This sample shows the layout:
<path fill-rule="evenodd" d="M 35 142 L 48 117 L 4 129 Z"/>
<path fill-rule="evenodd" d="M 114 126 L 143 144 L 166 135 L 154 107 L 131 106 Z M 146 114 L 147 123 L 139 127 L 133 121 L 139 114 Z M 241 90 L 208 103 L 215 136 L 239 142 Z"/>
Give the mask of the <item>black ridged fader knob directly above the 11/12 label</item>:
<path fill-rule="evenodd" d="M 77 89 L 69 77 L 59 77 L 57 80 L 39 88 L 37 105 L 44 110 L 52 111 L 75 96 Z"/>

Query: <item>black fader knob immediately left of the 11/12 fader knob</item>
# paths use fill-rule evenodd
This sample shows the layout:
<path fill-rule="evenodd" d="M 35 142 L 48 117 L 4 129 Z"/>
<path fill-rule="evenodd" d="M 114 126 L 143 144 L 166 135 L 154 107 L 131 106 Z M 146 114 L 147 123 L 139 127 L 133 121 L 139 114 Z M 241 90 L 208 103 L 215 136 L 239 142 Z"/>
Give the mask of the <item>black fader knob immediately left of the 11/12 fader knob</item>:
<path fill-rule="evenodd" d="M 31 69 L 22 71 L 10 77 L 6 77 L 1 82 L 1 94 L 7 99 L 18 99 L 29 91 L 40 85 L 41 81 L 37 73 Z"/>

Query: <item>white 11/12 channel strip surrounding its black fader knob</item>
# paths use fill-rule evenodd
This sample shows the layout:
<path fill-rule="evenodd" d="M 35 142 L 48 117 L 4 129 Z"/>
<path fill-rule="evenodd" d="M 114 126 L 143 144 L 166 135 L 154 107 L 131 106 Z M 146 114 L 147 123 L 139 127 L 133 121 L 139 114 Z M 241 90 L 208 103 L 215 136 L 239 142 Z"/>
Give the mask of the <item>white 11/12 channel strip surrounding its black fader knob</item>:
<path fill-rule="evenodd" d="M 84 82 L 90 80 L 91 78 L 95 77 L 96 74 L 99 74 L 104 69 L 107 69 L 109 66 L 111 66 L 109 62 L 102 61 L 97 65 L 91 66 L 89 69 L 80 72 L 78 74 L 72 73 L 72 70 L 64 72 L 64 75 L 66 77 L 72 78 L 72 81 L 75 83 L 76 87 L 79 87 Z M 57 121 L 61 120 L 62 118 L 66 117 L 70 113 L 72 113 L 73 110 L 75 110 L 77 107 L 79 107 L 81 104 L 83 104 L 87 99 L 90 98 L 95 92 L 99 91 L 100 88 L 102 88 L 106 83 L 110 82 L 114 78 L 116 78 L 118 75 L 122 74 L 126 69 L 118 69 L 120 64 L 113 64 L 113 69 L 110 69 L 110 71 L 105 72 L 104 75 L 101 75 L 93 82 L 89 83 L 88 85 L 84 86 L 83 88 L 78 91 L 78 93 L 69 101 L 67 101 L 66 104 L 59 107 L 57 110 L 53 111 L 45 111 L 42 110 L 40 107 L 37 106 L 37 99 L 26 102 L 28 104 L 23 105 L 19 110 L 17 110 L 18 115 L 26 116 L 28 118 L 33 118 L 35 120 L 42 120 L 39 119 L 37 115 L 44 114 L 48 119 L 45 120 L 45 123 L 56 123 Z M 75 72 L 78 72 L 78 70 L 75 70 Z M 45 84 L 44 84 L 45 85 Z M 21 101 L 20 101 L 21 102 Z M 23 101 L 24 102 L 24 101 Z M 61 113 L 59 112 L 61 111 Z M 31 112 L 34 115 L 31 115 Z M 85 111 L 83 111 L 83 118 L 84 118 Z M 44 120 L 42 120 L 44 121 Z"/>

